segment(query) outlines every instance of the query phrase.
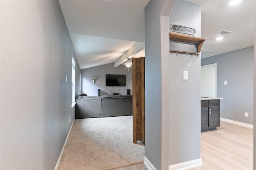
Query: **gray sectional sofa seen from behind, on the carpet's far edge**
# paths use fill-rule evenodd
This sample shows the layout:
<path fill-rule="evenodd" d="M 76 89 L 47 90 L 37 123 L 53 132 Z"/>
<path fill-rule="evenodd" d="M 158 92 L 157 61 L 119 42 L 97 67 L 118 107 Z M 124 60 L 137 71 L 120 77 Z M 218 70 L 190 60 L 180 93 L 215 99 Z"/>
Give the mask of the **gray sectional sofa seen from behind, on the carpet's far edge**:
<path fill-rule="evenodd" d="M 76 99 L 76 119 L 126 115 L 132 115 L 132 95 L 78 96 Z"/>

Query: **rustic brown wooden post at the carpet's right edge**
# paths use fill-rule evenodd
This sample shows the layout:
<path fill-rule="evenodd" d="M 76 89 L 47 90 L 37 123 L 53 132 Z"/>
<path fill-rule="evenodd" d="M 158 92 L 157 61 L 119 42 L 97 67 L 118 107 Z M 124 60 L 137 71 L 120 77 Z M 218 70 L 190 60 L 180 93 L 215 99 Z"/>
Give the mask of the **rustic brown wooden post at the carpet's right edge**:
<path fill-rule="evenodd" d="M 145 57 L 132 59 L 133 143 L 145 142 Z"/>

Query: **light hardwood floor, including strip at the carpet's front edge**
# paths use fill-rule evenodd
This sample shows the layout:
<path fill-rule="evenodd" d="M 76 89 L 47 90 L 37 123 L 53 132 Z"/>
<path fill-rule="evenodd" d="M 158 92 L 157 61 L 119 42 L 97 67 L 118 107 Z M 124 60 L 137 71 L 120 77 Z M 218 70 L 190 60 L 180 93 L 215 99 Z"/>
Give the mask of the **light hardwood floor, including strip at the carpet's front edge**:
<path fill-rule="evenodd" d="M 252 170 L 253 129 L 225 121 L 217 129 L 201 133 L 203 166 L 191 170 Z M 148 169 L 141 163 L 116 170 Z"/>

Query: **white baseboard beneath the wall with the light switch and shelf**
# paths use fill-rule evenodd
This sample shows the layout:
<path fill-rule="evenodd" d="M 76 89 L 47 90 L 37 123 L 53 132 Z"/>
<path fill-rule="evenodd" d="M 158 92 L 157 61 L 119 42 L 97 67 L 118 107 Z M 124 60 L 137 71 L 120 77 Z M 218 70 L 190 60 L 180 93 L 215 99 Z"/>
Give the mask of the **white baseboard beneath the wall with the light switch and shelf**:
<path fill-rule="evenodd" d="M 190 160 L 188 162 L 182 162 L 179 164 L 171 165 L 169 166 L 169 170 L 187 170 L 187 169 L 195 168 L 202 165 L 203 165 L 202 159 L 199 158 L 195 160 Z"/>

